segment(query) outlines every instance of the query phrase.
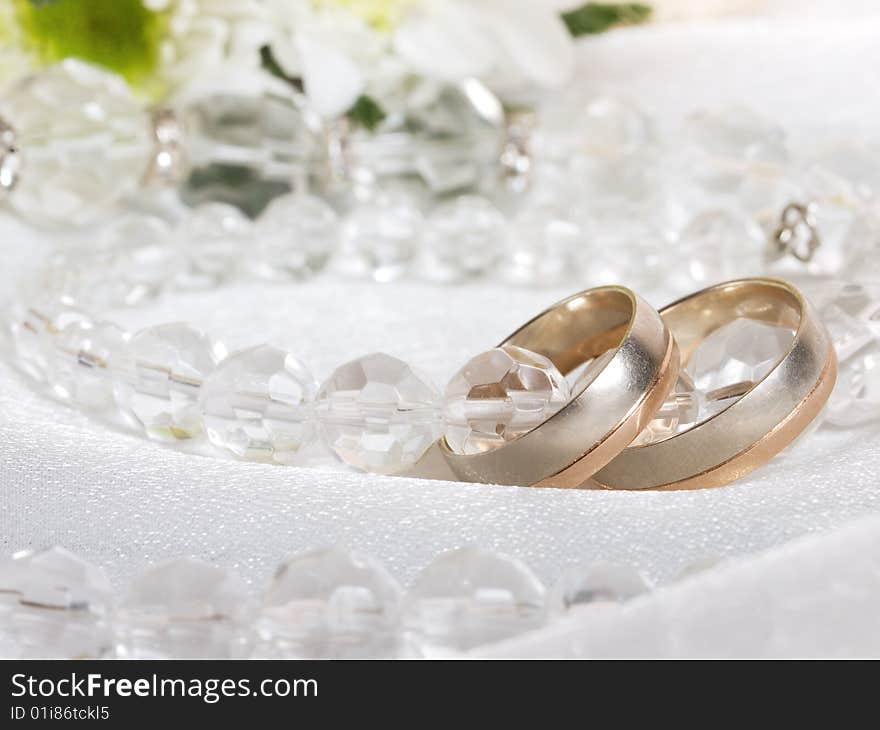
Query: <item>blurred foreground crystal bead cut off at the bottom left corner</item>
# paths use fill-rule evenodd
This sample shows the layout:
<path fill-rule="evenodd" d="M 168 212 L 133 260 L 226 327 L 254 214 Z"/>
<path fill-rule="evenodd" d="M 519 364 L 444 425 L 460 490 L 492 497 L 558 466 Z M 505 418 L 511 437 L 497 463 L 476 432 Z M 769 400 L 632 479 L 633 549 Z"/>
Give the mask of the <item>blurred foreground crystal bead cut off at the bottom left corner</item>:
<path fill-rule="evenodd" d="M 62 548 L 0 561 L 0 655 L 99 658 L 112 653 L 110 581 Z"/>

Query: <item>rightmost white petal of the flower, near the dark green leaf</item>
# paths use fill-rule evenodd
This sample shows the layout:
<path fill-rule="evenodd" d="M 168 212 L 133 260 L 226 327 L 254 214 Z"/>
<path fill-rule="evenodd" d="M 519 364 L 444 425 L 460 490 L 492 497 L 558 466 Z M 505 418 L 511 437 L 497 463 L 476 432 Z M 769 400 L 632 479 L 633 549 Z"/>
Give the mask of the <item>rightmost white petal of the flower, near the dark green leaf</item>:
<path fill-rule="evenodd" d="M 564 86 L 574 72 L 574 43 L 559 15 L 531 0 L 480 0 L 487 33 L 509 62 L 539 86 Z M 495 69 L 503 72 L 503 69 Z"/>

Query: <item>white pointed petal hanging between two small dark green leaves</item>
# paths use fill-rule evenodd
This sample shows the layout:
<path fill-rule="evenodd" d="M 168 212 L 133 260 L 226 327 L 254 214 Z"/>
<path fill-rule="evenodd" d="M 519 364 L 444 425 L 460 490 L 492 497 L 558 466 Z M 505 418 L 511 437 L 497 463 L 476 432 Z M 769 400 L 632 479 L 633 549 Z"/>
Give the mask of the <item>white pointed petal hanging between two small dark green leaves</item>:
<path fill-rule="evenodd" d="M 346 54 L 310 38 L 297 38 L 303 85 L 313 109 L 323 117 L 347 112 L 363 93 L 364 78 Z"/>

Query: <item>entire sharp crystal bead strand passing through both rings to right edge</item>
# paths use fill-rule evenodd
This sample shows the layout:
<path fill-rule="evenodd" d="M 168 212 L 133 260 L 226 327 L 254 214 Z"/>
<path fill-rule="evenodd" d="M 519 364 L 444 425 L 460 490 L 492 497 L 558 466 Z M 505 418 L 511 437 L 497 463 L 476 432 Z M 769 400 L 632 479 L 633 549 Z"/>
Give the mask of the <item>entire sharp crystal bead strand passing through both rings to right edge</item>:
<path fill-rule="evenodd" d="M 440 438 L 462 454 L 496 449 L 550 418 L 613 356 L 610 350 L 563 376 L 538 353 L 496 348 L 466 363 L 441 395 L 407 363 L 373 353 L 319 385 L 284 350 L 258 345 L 228 354 L 184 323 L 131 335 L 76 308 L 66 294 L 37 291 L 12 308 L 8 333 L 21 369 L 57 398 L 90 412 L 120 412 L 155 440 L 204 435 L 236 458 L 280 464 L 303 463 L 318 441 L 349 466 L 383 474 L 411 466 Z M 840 359 L 825 412 L 833 425 L 880 417 L 878 295 L 847 285 L 822 304 Z M 770 372 L 792 337 L 791 329 L 745 318 L 713 332 L 634 445 L 727 408 Z"/>

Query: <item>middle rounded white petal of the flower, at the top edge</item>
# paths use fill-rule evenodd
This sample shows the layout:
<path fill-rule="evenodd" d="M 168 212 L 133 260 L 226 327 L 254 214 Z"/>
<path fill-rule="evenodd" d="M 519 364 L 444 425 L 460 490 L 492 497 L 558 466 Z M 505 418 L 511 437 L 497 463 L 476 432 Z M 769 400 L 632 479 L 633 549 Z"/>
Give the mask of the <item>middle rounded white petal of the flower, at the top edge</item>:
<path fill-rule="evenodd" d="M 467 5 L 429 5 L 394 33 L 394 49 L 417 73 L 460 81 L 488 71 L 497 49 L 482 32 L 480 18 Z"/>

